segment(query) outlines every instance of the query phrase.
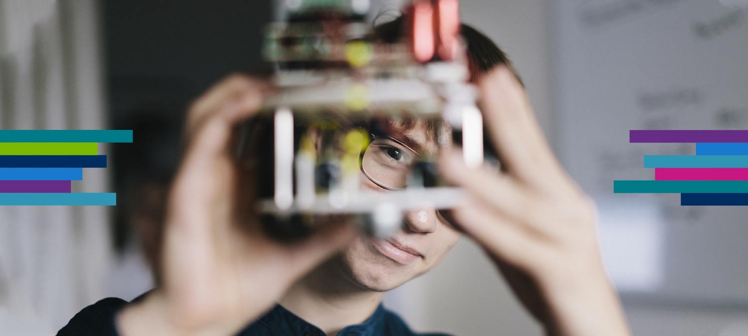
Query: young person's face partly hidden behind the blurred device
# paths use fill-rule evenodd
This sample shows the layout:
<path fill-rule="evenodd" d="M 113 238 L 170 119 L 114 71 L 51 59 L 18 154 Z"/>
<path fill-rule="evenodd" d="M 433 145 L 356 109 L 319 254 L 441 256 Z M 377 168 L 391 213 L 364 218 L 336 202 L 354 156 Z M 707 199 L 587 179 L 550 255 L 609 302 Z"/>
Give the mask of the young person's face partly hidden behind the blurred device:
<path fill-rule="evenodd" d="M 391 137 L 424 156 L 435 155 L 438 149 L 431 133 L 420 121 L 412 127 L 392 125 L 390 130 Z M 369 178 L 361 178 L 361 185 L 387 191 Z M 381 240 L 361 235 L 335 262 L 358 286 L 390 290 L 435 267 L 460 236 L 435 208 L 417 208 L 405 213 L 402 227 L 392 237 Z"/>

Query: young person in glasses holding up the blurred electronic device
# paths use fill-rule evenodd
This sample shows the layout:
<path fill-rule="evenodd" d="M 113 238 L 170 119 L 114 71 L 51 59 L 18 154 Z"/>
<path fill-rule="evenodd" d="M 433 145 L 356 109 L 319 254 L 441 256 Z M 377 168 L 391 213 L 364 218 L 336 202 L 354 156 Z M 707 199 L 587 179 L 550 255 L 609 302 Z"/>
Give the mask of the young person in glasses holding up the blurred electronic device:
<path fill-rule="evenodd" d="M 398 36 L 402 21 L 378 28 Z M 330 223 L 300 243 L 278 243 L 257 225 L 244 190 L 251 176 L 230 153 L 233 130 L 272 88 L 234 75 L 188 111 L 188 146 L 168 199 L 159 286 L 127 303 L 104 299 L 58 335 L 415 335 L 381 306 L 384 292 L 438 264 L 467 234 L 548 335 L 629 335 L 596 243 L 595 206 L 568 177 L 542 134 L 509 60 L 467 25 L 472 81 L 504 171 L 469 169 L 455 149 L 441 173 L 465 189 L 454 223 L 433 208 L 405 216 L 391 238 Z M 393 143 L 365 155 L 399 164 L 435 153 L 424 122 L 392 122 Z M 372 152 L 370 152 L 372 151 Z M 364 187 L 383 190 L 375 178 Z"/>

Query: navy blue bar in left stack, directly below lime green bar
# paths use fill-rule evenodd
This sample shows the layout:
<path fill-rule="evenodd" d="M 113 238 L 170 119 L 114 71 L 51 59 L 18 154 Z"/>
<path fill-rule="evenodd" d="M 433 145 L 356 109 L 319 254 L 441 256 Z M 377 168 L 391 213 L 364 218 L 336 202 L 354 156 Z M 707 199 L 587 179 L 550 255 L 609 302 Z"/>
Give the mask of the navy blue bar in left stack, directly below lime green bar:
<path fill-rule="evenodd" d="M 106 155 L 0 155 L 4 168 L 106 168 Z"/>

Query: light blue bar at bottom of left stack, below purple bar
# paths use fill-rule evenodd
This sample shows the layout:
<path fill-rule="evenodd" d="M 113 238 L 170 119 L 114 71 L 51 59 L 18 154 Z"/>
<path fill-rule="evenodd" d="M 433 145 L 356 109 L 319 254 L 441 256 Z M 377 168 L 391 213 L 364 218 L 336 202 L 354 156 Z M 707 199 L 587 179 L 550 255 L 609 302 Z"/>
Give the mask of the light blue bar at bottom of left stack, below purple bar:
<path fill-rule="evenodd" d="M 0 205 L 117 205 L 117 194 L 0 193 Z"/>

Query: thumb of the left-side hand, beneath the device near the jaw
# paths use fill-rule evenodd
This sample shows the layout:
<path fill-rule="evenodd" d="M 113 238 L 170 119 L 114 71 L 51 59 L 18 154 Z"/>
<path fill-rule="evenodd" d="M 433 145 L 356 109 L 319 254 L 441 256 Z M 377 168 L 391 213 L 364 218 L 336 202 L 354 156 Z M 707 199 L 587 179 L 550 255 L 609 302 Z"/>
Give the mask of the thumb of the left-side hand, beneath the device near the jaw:
<path fill-rule="evenodd" d="M 306 240 L 296 243 L 289 253 L 289 267 L 295 276 L 308 273 L 343 246 L 353 241 L 358 234 L 352 223 L 325 225 Z"/>

